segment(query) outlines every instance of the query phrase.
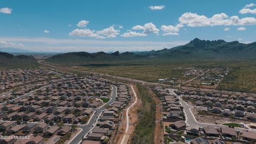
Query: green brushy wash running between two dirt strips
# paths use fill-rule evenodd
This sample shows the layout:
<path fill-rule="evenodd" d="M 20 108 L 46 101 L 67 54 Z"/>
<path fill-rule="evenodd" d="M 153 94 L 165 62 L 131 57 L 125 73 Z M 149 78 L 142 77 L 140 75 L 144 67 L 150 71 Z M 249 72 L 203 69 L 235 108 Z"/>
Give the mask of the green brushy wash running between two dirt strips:
<path fill-rule="evenodd" d="M 137 110 L 138 123 L 130 143 L 154 143 L 156 104 L 146 87 L 137 84 L 142 106 Z"/>

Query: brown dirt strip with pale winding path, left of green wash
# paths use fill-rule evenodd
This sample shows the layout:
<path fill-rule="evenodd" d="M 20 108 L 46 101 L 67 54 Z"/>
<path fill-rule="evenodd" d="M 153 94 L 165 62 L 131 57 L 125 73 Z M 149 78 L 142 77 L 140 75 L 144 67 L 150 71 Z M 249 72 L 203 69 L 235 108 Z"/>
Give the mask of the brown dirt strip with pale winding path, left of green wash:
<path fill-rule="evenodd" d="M 137 93 L 137 89 L 136 86 L 133 85 L 133 89 L 134 91 Z M 128 107 L 130 107 L 132 105 L 132 103 L 135 102 L 135 95 L 133 94 L 133 91 L 130 88 L 130 93 L 131 93 L 131 97 L 132 97 L 132 101 L 130 102 L 130 105 Z M 126 107 L 126 108 L 128 108 Z M 110 143 L 129 143 L 129 139 L 130 136 L 132 135 L 134 128 L 136 126 L 137 123 L 137 109 L 140 107 L 139 105 L 139 98 L 137 97 L 137 102 L 129 109 L 128 112 L 128 116 L 129 116 L 129 125 L 127 127 L 127 132 L 126 131 L 126 126 L 127 126 L 127 121 L 126 121 L 126 110 L 123 111 L 122 113 L 122 119 L 121 122 L 119 122 L 119 127 L 118 127 L 118 134 L 116 135 L 115 139 L 113 140 L 113 142 Z"/>

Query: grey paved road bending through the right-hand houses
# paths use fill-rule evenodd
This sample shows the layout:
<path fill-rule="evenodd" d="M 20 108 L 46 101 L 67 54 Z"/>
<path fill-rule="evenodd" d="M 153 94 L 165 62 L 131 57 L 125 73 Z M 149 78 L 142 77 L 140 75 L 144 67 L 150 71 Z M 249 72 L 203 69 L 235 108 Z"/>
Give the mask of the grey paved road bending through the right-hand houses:
<path fill-rule="evenodd" d="M 183 107 L 183 111 L 185 113 L 186 116 L 186 123 L 187 125 L 198 125 L 200 127 L 203 126 L 213 126 L 213 127 L 227 127 L 226 125 L 220 125 L 220 124 L 209 124 L 209 123 L 199 123 L 197 122 L 194 114 L 192 113 L 192 111 L 190 110 L 191 108 L 195 108 L 195 106 L 189 106 L 188 103 L 184 100 L 181 99 L 181 95 L 177 95 L 176 93 L 174 93 L 175 89 L 167 89 L 169 90 L 169 92 L 175 96 L 177 96 L 179 98 L 180 104 Z M 248 129 L 244 129 L 244 128 L 240 128 L 240 127 L 235 127 L 235 130 L 237 131 L 246 131 Z M 251 132 L 256 133 L 256 130 L 248 130 Z"/>

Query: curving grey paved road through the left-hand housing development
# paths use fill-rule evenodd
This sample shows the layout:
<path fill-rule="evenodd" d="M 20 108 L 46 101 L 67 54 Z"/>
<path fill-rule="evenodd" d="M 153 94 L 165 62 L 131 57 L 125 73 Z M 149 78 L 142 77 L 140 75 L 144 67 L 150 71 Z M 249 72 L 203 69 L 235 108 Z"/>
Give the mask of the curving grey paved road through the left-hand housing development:
<path fill-rule="evenodd" d="M 111 99 L 105 104 L 105 105 L 110 105 L 111 103 L 113 103 L 116 99 L 117 96 L 117 87 L 116 86 L 112 86 L 113 87 L 113 91 L 112 91 L 112 95 L 111 95 Z M 87 123 L 86 125 L 77 125 L 78 128 L 81 128 L 82 131 L 72 140 L 70 141 L 70 144 L 78 144 L 81 142 L 82 138 L 84 138 L 87 133 L 90 132 L 90 130 L 92 129 L 93 125 L 95 126 L 95 123 L 97 122 L 100 114 L 102 113 L 102 110 L 104 110 L 105 107 L 100 107 L 98 109 L 94 109 L 95 113 L 94 115 L 91 117 L 90 122 Z M 95 122 L 96 121 L 96 122 Z"/>

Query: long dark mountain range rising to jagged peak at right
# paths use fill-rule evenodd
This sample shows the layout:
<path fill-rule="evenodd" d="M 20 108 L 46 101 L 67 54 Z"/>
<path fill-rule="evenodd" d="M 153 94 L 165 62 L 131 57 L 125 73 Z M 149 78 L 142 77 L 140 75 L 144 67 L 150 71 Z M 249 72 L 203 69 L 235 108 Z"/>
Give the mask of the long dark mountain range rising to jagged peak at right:
<path fill-rule="evenodd" d="M 47 59 L 49 62 L 65 65 L 85 65 L 88 63 L 119 63 L 135 61 L 157 61 L 157 60 L 216 60 L 216 59 L 256 59 L 256 42 L 243 44 L 237 41 L 225 42 L 205 41 L 198 38 L 193 39 L 186 45 L 163 49 L 158 51 L 124 52 L 119 53 L 87 53 L 70 52 L 54 55 Z"/>

